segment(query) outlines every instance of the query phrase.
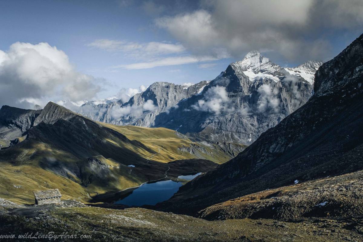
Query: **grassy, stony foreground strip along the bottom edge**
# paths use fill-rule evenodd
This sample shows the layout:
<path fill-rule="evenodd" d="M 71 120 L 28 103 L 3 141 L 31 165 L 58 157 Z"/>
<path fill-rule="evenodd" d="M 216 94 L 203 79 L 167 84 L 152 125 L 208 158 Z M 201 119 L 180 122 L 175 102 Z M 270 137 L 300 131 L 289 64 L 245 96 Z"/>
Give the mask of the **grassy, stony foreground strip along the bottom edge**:
<path fill-rule="evenodd" d="M 41 209 L 41 207 L 39 207 Z M 3 210 L 5 213 L 6 208 Z M 24 211 L 24 210 L 23 210 Z M 19 210 L 18 210 L 19 212 Z M 60 241 L 362 241 L 362 219 L 301 218 L 291 222 L 267 219 L 207 221 L 148 209 L 125 210 L 95 207 L 50 208 L 28 217 L 1 213 L 1 234 L 54 231 L 60 235 L 92 235 L 87 239 Z M 23 212 L 27 215 L 26 212 Z M 29 216 L 30 214 L 30 216 Z M 48 217 L 49 216 L 49 217 Z M 36 218 L 38 217 L 38 219 Z M 40 219 L 39 219 L 40 218 Z M 49 241 L 49 239 L 38 241 Z"/>

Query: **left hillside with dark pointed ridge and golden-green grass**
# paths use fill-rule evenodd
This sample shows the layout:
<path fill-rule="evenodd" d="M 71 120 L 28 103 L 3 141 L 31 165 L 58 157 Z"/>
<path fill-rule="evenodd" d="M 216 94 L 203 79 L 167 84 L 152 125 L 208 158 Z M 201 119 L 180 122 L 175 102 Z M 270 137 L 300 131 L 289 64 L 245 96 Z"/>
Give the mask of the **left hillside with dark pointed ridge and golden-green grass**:
<path fill-rule="evenodd" d="M 23 116 L 5 118 L 9 110 Z M 0 110 L 3 130 L 18 140 L 0 151 L 0 194 L 15 202 L 31 204 L 32 190 L 47 188 L 60 189 L 64 198 L 91 201 L 164 179 L 165 171 L 176 180 L 231 158 L 216 144 L 193 142 L 167 128 L 94 122 L 51 102 L 37 116 L 33 112 L 7 106 Z"/>

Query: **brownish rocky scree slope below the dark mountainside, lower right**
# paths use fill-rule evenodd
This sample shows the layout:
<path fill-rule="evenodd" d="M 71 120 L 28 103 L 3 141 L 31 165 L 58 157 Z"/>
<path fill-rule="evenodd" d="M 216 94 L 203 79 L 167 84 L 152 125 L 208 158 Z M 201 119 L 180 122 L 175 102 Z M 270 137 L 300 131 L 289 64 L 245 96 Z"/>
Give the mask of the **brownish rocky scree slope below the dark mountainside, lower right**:
<path fill-rule="evenodd" d="M 199 212 L 204 219 L 350 217 L 363 214 L 363 171 L 248 194 Z M 362 231 L 363 232 L 363 231 Z"/>

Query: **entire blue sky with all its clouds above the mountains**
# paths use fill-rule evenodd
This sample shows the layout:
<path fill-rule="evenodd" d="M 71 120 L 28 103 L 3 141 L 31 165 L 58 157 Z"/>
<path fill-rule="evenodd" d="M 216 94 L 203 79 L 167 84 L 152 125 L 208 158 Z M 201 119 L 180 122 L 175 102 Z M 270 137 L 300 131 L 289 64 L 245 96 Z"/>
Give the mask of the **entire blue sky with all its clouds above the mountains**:
<path fill-rule="evenodd" d="M 252 50 L 284 67 L 328 61 L 363 32 L 361 0 L 2 0 L 0 11 L 0 106 L 21 108 L 214 79 Z"/>

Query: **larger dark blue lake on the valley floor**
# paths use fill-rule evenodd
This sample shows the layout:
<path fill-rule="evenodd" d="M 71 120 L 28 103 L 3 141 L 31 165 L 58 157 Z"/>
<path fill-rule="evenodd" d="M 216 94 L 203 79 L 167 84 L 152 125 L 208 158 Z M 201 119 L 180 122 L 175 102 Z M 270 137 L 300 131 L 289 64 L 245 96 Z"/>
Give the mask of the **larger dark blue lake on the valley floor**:
<path fill-rule="evenodd" d="M 172 180 L 145 183 L 133 190 L 129 196 L 116 201 L 115 204 L 129 206 L 155 205 L 171 198 L 174 193 L 178 192 L 180 186 L 182 186 L 181 182 Z"/>

